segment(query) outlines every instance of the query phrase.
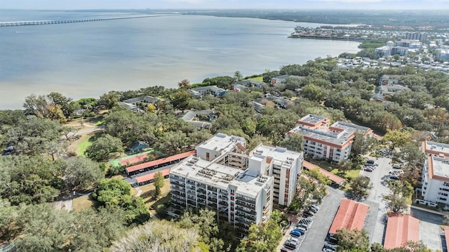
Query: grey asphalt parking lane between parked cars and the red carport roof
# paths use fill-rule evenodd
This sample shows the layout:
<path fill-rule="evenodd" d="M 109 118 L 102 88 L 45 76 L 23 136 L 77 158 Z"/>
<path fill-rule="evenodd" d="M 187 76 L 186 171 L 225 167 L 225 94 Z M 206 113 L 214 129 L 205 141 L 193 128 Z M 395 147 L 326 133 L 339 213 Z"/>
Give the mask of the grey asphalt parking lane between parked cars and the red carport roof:
<path fill-rule="evenodd" d="M 321 251 L 324 240 L 328 235 L 335 213 L 337 213 L 340 201 L 344 198 L 344 192 L 328 187 L 329 194 L 323 199 L 320 210 L 315 214 L 314 222 L 305 235 L 299 251 L 311 252 Z"/>

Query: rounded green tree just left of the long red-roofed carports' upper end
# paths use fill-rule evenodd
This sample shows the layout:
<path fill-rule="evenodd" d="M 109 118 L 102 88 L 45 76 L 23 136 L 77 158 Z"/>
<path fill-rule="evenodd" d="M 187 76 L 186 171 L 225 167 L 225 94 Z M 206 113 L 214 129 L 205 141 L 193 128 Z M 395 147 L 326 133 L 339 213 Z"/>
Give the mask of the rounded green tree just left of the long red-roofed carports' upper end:
<path fill-rule="evenodd" d="M 94 161 L 107 161 L 112 152 L 123 152 L 123 144 L 112 135 L 102 135 L 86 149 L 86 156 Z"/>

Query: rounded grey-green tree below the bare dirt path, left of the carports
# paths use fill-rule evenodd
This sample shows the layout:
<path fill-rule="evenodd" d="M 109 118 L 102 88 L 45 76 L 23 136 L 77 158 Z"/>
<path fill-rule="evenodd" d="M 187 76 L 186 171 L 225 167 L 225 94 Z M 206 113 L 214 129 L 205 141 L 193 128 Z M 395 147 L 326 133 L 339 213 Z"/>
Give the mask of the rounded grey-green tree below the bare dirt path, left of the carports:
<path fill-rule="evenodd" d="M 81 190 L 98 183 L 105 177 L 100 165 L 85 157 L 69 157 L 63 161 L 62 176 L 67 187 Z"/>

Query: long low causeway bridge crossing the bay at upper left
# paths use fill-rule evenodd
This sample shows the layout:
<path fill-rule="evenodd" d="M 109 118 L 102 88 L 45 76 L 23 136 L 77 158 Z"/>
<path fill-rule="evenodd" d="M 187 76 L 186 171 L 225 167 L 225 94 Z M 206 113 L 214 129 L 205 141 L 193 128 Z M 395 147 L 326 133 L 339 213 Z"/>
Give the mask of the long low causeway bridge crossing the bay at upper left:
<path fill-rule="evenodd" d="M 107 20 L 119 20 L 119 19 L 130 19 L 130 18 L 152 18 L 166 15 L 179 15 L 179 14 L 161 14 L 161 15 L 128 15 L 123 17 L 112 17 L 112 18 L 88 18 L 79 20 L 34 20 L 34 21 L 14 21 L 14 22 L 0 22 L 0 27 L 11 27 L 11 26 L 25 26 L 25 25 L 54 25 L 54 24 L 67 24 L 72 22 L 96 22 L 96 21 L 107 21 Z"/>

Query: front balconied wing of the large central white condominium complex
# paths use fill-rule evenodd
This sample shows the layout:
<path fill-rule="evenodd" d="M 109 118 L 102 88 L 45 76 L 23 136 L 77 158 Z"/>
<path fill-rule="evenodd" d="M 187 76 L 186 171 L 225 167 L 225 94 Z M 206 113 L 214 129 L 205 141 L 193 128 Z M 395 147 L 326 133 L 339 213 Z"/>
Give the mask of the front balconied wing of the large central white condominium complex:
<path fill-rule="evenodd" d="M 189 157 L 170 171 L 173 213 L 211 208 L 219 220 L 234 223 L 239 232 L 248 233 L 251 223 L 267 221 L 272 213 L 274 179 L 260 172 Z"/>

